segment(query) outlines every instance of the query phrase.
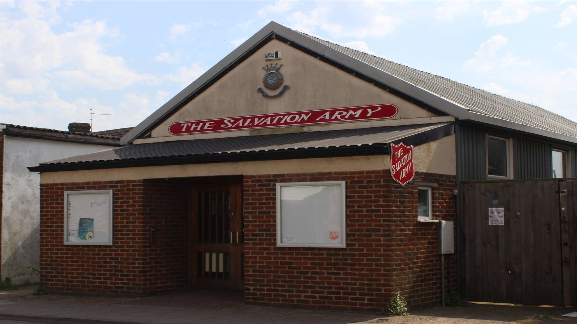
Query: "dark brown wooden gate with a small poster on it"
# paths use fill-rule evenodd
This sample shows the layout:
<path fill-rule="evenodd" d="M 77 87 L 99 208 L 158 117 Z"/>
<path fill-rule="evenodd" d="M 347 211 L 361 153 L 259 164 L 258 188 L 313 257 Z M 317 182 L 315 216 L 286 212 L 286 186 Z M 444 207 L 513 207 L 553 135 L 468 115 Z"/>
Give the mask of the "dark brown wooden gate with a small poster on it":
<path fill-rule="evenodd" d="M 474 181 L 462 189 L 467 298 L 577 306 L 576 180 Z M 490 225 L 499 208 L 503 225 Z"/>

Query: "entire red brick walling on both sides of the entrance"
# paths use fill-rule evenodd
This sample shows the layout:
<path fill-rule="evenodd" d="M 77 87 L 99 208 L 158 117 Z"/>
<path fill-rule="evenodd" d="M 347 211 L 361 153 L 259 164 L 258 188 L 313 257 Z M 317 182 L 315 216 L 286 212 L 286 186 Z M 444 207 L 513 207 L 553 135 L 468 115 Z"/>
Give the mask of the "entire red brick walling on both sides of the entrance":
<path fill-rule="evenodd" d="M 454 220 L 454 176 L 436 182 L 433 213 Z M 347 248 L 276 247 L 276 182 L 346 180 Z M 42 184 L 41 281 L 50 293 L 145 295 L 188 283 L 184 179 Z M 396 291 L 413 307 L 440 303 L 437 224 L 417 223 L 417 186 L 388 170 L 245 176 L 245 287 L 249 303 L 384 311 Z M 114 246 L 66 246 L 65 190 L 114 189 Z M 150 229 L 156 242 L 150 244 Z M 455 260 L 447 257 L 454 289 Z"/>

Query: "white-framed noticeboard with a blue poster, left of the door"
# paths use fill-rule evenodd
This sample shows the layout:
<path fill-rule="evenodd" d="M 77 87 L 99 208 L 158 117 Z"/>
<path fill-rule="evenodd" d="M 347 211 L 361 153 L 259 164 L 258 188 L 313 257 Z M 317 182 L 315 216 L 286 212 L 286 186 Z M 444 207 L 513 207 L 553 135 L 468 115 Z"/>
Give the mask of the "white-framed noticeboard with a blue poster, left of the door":
<path fill-rule="evenodd" d="M 113 190 L 64 192 L 64 244 L 113 244 Z"/>

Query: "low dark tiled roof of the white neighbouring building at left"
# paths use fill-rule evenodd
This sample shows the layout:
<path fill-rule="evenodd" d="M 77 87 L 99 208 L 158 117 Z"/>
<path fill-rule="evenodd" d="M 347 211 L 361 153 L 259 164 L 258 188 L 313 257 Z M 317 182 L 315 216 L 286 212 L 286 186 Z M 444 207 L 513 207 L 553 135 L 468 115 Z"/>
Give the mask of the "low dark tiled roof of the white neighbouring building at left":
<path fill-rule="evenodd" d="M 16 137 L 38 138 L 40 140 L 77 142 L 85 144 L 99 144 L 120 146 L 120 137 L 107 136 L 97 133 L 77 133 L 74 131 L 47 129 L 40 127 L 22 126 L 0 123 L 0 130 L 4 134 Z M 126 134 L 126 133 L 124 133 Z"/>

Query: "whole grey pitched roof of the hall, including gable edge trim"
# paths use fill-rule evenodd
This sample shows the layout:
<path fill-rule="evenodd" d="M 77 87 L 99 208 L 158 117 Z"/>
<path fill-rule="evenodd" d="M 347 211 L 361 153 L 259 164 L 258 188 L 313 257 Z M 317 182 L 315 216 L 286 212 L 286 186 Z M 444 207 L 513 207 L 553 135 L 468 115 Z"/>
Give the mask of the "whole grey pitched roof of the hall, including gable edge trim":
<path fill-rule="evenodd" d="M 224 76 L 258 48 L 272 39 L 279 39 L 291 46 L 335 63 L 357 76 L 375 80 L 404 95 L 422 101 L 439 111 L 459 120 L 470 120 L 497 127 L 531 133 L 555 140 L 577 143 L 577 123 L 553 112 L 531 104 L 494 95 L 447 78 L 419 71 L 368 55 L 325 40 L 293 31 L 290 28 L 269 22 L 241 46 L 211 67 L 197 80 L 179 92 L 166 104 L 153 112 L 134 129 L 121 138 L 128 144 L 145 135 L 153 127 L 172 115 L 198 93 Z"/>

